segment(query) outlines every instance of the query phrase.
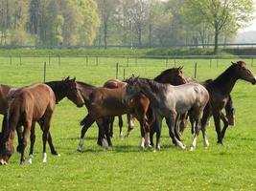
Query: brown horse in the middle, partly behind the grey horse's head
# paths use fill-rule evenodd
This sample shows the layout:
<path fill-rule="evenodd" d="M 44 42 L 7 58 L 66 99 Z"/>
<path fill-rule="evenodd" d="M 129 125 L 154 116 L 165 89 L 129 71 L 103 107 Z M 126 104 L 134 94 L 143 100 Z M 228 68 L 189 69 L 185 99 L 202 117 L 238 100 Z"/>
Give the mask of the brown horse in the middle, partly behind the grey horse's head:
<path fill-rule="evenodd" d="M 132 102 L 137 103 L 136 108 L 139 109 L 139 111 L 136 111 L 136 109 L 133 107 L 133 104 L 128 105 L 123 102 L 125 87 L 108 89 L 96 88 L 92 86 L 90 87 L 90 85 L 83 82 L 78 82 L 78 84 L 80 86 L 79 89 L 81 91 L 81 95 L 84 98 L 85 106 L 88 111 L 88 115 L 81 120 L 82 128 L 78 151 L 81 151 L 85 133 L 94 121 L 98 121 L 100 124 L 98 125 L 100 127 L 99 135 L 101 136 L 101 141 L 105 147 L 111 145 L 111 139 L 108 134 L 109 117 L 131 114 L 140 121 L 141 129 L 148 127 L 146 113 L 148 111 L 150 102 L 146 96 L 139 95 L 133 99 Z M 101 120 L 101 123 L 99 120 Z M 103 133 L 103 131 L 105 131 L 105 133 Z M 108 145 L 105 144 L 105 136 Z"/>

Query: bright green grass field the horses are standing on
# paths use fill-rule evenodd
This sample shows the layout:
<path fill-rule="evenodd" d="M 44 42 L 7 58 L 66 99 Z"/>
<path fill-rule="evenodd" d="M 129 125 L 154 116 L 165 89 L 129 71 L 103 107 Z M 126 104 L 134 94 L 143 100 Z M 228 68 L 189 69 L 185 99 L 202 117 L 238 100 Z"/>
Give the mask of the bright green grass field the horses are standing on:
<path fill-rule="evenodd" d="M 48 58 L 0 57 L 0 83 L 23 86 L 43 80 L 43 62 Z M 169 60 L 168 67 L 184 66 L 185 76 L 194 76 L 198 63 L 199 80 L 215 78 L 231 60 L 182 59 Z M 236 60 L 232 60 L 236 61 Z M 244 60 L 252 71 L 251 60 Z M 99 58 L 98 66 L 90 59 L 51 58 L 47 64 L 46 80 L 58 80 L 67 75 L 78 80 L 102 86 L 109 78 L 115 78 L 116 62 L 120 64 L 119 78 L 136 74 L 154 77 L 166 69 L 165 59 Z M 180 64 L 178 64 L 180 63 Z M 62 100 L 56 109 L 51 127 L 54 143 L 60 157 L 54 157 L 47 148 L 48 161 L 41 162 L 41 132 L 36 128 L 35 158 L 20 166 L 20 155 L 14 153 L 9 165 L 0 166 L 0 190 L 256 190 L 256 87 L 238 81 L 232 92 L 236 108 L 236 125 L 227 129 L 223 145 L 217 145 L 217 136 L 211 120 L 208 127 L 210 147 L 204 149 L 201 135 L 195 152 L 181 151 L 171 143 L 165 123 L 162 132 L 161 151 L 139 151 L 138 123 L 130 138 L 118 138 L 117 123 L 113 147 L 107 152 L 96 145 L 98 129 L 95 125 L 85 136 L 83 152 L 76 151 L 81 128 L 79 121 L 86 114 L 85 108 L 77 108 L 68 100 Z M 2 117 L 0 118 L 2 119 Z M 127 125 L 125 127 L 125 130 Z M 190 128 L 183 137 L 187 145 L 192 142 Z M 27 148 L 27 153 L 28 153 Z"/>

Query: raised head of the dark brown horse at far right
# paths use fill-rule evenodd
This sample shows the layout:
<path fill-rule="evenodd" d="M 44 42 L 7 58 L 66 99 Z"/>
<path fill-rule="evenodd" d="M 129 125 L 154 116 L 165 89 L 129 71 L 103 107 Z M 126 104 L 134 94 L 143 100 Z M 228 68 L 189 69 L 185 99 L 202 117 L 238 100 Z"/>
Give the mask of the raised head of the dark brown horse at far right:
<path fill-rule="evenodd" d="M 237 61 L 231 63 L 234 74 L 236 74 L 238 78 L 251 82 L 253 85 L 256 84 L 255 75 L 248 69 L 244 61 Z"/>

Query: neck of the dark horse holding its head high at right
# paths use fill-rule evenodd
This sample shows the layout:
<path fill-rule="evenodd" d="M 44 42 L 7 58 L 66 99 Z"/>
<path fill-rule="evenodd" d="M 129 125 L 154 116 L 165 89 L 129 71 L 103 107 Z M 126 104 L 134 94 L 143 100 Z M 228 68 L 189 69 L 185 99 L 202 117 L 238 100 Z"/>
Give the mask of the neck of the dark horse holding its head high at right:
<path fill-rule="evenodd" d="M 228 96 L 234 88 L 237 80 L 238 77 L 234 75 L 232 68 L 228 68 L 209 84 L 214 84 L 215 87 L 218 87 L 219 90 L 221 90 L 222 95 Z"/>

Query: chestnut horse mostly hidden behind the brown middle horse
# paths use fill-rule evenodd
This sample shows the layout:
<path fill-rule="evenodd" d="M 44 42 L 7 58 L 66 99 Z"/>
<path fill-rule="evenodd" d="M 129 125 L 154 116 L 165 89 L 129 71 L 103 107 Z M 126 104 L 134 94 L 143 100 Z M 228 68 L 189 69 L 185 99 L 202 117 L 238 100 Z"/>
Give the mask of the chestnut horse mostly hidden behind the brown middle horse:
<path fill-rule="evenodd" d="M 105 82 L 104 87 L 105 88 L 109 88 L 109 89 L 114 89 L 114 88 L 123 88 L 126 85 L 127 85 L 126 82 L 121 81 L 119 79 L 109 79 L 109 80 L 107 80 Z M 129 132 L 134 127 L 134 124 L 133 124 L 131 118 L 132 117 L 130 115 L 127 115 L 127 119 L 128 119 L 128 132 L 127 132 L 126 138 L 128 138 Z M 115 117 L 111 117 L 109 119 L 109 125 L 110 125 L 109 126 L 109 135 L 110 135 L 111 138 L 113 137 L 113 122 L 114 122 L 114 119 L 115 119 Z M 118 119 L 119 119 L 119 123 L 118 123 L 118 125 L 119 125 L 119 137 L 122 138 L 123 137 L 122 128 L 123 128 L 124 122 L 123 122 L 122 116 L 119 116 Z"/>

